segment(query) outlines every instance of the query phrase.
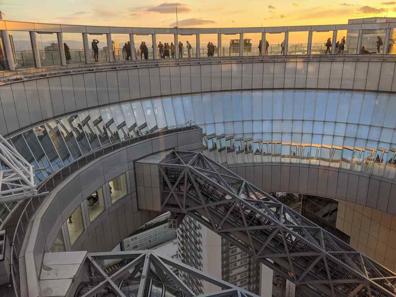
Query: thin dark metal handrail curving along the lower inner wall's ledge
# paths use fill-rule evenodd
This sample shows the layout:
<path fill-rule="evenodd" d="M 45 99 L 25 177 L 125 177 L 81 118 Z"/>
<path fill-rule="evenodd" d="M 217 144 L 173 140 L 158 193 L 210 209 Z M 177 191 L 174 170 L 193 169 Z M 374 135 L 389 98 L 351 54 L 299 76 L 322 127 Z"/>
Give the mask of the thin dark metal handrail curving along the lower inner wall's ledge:
<path fill-rule="evenodd" d="M 192 129 L 194 127 L 194 121 L 193 120 L 188 120 L 183 124 L 178 124 L 178 125 L 172 125 L 169 127 L 165 127 L 165 128 L 156 128 L 152 131 L 149 131 L 143 135 L 139 135 L 136 137 L 128 137 L 127 139 L 119 139 L 119 141 L 113 142 L 107 146 L 103 146 L 99 149 L 96 149 L 88 154 L 85 154 L 77 159 L 75 159 L 73 162 L 67 164 L 66 166 L 63 166 L 62 168 L 60 168 L 59 170 L 57 170 L 56 172 L 52 173 L 51 175 L 49 175 L 47 178 L 45 178 L 43 181 L 41 181 L 37 188 L 38 188 L 38 192 L 42 193 L 43 191 L 45 192 L 49 192 L 54 189 L 58 184 L 61 183 L 61 181 L 64 180 L 64 178 L 66 178 L 67 176 L 71 175 L 72 173 L 74 173 L 75 171 L 77 171 L 80 166 L 79 166 L 79 162 L 84 160 L 84 162 L 82 162 L 82 166 L 88 164 L 89 162 L 95 160 L 96 158 L 99 158 L 103 155 L 105 155 L 106 153 L 110 152 L 110 151 L 114 151 L 117 150 L 121 147 L 130 145 L 132 143 L 136 143 L 139 142 L 141 140 L 145 140 L 145 139 L 149 139 L 149 138 L 153 138 L 156 136 L 160 136 L 163 134 L 168 134 L 168 133 L 174 133 L 175 130 L 184 130 L 184 129 Z M 132 142 L 133 140 L 133 142 Z M 106 151 L 108 149 L 111 149 L 110 151 Z M 101 152 L 101 153 L 98 153 Z M 92 159 L 90 159 L 90 157 L 92 157 Z M 77 164 L 76 168 L 71 169 L 72 165 Z M 65 169 L 68 169 L 69 174 L 65 175 L 63 177 L 62 171 L 64 171 Z M 57 180 L 55 181 L 55 177 L 57 175 L 59 175 L 60 173 L 60 182 L 57 182 Z M 52 181 L 52 186 L 51 187 L 47 187 L 47 183 L 49 183 L 50 181 Z M 49 194 L 48 193 L 48 194 Z M 48 195 L 47 194 L 47 195 Z M 26 205 L 23 207 L 23 210 L 20 213 L 19 219 L 15 225 L 15 229 L 13 232 L 13 236 L 12 236 L 12 241 L 10 242 L 11 244 L 11 257 L 10 257 L 10 273 L 11 273 L 11 277 L 12 277 L 12 285 L 13 285 L 13 289 L 14 289 L 14 293 L 16 296 L 19 296 L 19 264 L 15 263 L 14 260 L 18 259 L 18 254 L 20 252 L 20 248 L 25 236 L 25 232 L 27 229 L 27 225 L 30 221 L 30 219 L 34 216 L 35 211 L 38 209 L 38 207 L 41 205 L 42 201 L 45 200 L 45 197 L 47 196 L 43 196 L 40 197 L 40 195 L 36 196 L 36 197 L 32 197 L 30 199 L 27 200 Z M 33 204 L 34 200 L 33 199 L 38 199 L 38 203 L 36 205 Z M 20 204 L 21 205 L 21 204 Z M 19 205 L 18 205 L 19 206 Z M 28 212 L 28 207 L 31 206 L 32 211 Z M 23 222 L 22 219 L 25 217 L 26 219 L 26 226 L 23 226 Z M 18 235 L 18 230 L 21 228 L 22 231 L 22 235 L 19 238 Z M 17 240 L 17 241 L 16 241 Z M 15 256 L 15 258 L 14 258 Z M 16 265 L 15 265 L 16 264 Z M 15 269 L 16 268 L 16 269 Z M 17 277 L 16 277 L 17 276 Z M 18 285 L 16 285 L 18 283 Z"/>

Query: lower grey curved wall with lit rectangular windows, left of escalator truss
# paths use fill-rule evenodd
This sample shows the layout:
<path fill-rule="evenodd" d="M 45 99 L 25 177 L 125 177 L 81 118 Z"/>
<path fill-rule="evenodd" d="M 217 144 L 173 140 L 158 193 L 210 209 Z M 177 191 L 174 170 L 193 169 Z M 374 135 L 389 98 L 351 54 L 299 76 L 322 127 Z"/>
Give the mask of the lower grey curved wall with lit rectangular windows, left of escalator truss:
<path fill-rule="evenodd" d="M 53 189 L 30 221 L 30 233 L 25 237 L 26 249 L 22 249 L 19 258 L 19 267 L 25 268 L 26 273 L 26 283 L 23 283 L 21 273 L 21 290 L 25 288 L 31 296 L 40 295 L 37 280 L 42 257 L 51 248 L 60 229 L 66 250 L 108 251 L 127 234 L 157 216 L 159 212 L 138 208 L 133 161 L 166 149 L 199 149 L 201 133 L 199 128 L 195 128 L 120 148 L 88 163 Z M 86 198 L 124 172 L 127 176 L 127 194 L 114 204 L 107 204 L 105 210 L 89 222 Z M 108 198 L 108 190 L 104 191 L 104 195 Z M 80 205 L 83 209 L 84 231 L 70 246 L 67 218 Z"/>

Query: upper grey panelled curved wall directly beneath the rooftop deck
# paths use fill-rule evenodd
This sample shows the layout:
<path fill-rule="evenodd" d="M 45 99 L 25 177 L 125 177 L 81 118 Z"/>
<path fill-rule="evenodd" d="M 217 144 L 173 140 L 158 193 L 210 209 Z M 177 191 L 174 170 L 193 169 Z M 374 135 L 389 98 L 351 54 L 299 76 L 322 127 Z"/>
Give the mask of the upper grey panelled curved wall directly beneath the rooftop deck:
<path fill-rule="evenodd" d="M 155 61 L 44 72 L 0 86 L 0 133 L 76 110 L 164 95 L 259 88 L 393 92 L 394 68 L 391 56 L 312 56 Z"/>

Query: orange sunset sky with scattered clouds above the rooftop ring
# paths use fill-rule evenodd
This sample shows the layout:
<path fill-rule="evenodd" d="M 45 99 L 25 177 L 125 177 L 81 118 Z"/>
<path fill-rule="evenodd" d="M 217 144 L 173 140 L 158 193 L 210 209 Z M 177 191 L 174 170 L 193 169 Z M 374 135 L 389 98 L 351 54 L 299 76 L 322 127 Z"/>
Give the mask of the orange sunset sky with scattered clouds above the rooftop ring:
<path fill-rule="evenodd" d="M 349 18 L 396 17 L 396 1 L 182 0 L 179 27 L 240 27 L 346 23 Z M 169 27 L 175 2 L 163 0 L 0 0 L 6 19 L 52 23 Z"/>

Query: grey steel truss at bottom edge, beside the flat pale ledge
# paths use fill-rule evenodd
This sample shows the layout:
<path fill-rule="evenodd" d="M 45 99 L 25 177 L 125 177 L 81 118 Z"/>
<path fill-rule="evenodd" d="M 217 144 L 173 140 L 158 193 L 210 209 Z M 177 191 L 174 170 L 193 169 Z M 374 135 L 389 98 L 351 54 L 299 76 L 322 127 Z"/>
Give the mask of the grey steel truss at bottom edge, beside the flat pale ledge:
<path fill-rule="evenodd" d="M 114 264 L 107 266 L 106 269 L 103 261 L 108 259 L 111 259 Z M 119 297 L 132 295 L 137 297 L 196 296 L 176 276 L 172 268 L 194 275 L 219 287 L 218 292 L 201 296 L 258 297 L 233 284 L 213 278 L 198 269 L 157 254 L 152 250 L 87 253 L 82 268 L 74 276 L 74 288 L 70 293 L 75 297 L 96 296 L 103 292 Z"/>

